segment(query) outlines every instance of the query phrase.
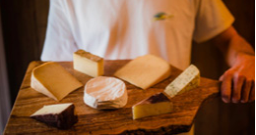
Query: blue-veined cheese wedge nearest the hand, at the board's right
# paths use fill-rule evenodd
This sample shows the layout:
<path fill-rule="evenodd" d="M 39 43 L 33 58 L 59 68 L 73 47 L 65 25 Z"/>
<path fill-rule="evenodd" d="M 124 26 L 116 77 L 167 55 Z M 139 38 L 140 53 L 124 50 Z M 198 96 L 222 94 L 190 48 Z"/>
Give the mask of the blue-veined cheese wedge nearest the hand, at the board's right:
<path fill-rule="evenodd" d="M 166 86 L 164 93 L 172 98 L 175 95 L 198 87 L 199 84 L 200 71 L 197 67 L 191 65 Z"/>

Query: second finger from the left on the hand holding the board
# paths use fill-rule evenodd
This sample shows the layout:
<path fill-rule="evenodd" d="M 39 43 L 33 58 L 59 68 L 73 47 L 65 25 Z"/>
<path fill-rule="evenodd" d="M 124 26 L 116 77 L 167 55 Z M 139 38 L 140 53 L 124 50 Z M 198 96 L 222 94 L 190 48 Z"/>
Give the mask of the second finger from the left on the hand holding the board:
<path fill-rule="evenodd" d="M 232 102 L 238 103 L 241 99 L 241 90 L 245 78 L 240 75 L 234 75 L 233 77 L 233 89 L 232 89 Z"/>

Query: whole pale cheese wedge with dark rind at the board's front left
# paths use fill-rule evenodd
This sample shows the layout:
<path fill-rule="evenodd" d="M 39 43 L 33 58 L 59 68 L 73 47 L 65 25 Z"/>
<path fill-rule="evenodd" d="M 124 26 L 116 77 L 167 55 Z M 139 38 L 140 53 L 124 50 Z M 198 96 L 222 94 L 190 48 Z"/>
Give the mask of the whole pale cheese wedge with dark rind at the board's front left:
<path fill-rule="evenodd" d="M 68 129 L 78 121 L 74 110 L 73 104 L 48 105 L 34 112 L 31 117 L 59 129 Z"/>

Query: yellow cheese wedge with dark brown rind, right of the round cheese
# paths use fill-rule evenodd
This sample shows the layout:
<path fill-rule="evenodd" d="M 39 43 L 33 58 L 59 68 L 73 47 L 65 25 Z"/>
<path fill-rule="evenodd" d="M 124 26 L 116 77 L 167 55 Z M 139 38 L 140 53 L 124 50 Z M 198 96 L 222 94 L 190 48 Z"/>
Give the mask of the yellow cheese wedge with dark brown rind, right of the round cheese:
<path fill-rule="evenodd" d="M 141 101 L 132 107 L 133 119 L 172 112 L 173 104 L 162 93 Z"/>

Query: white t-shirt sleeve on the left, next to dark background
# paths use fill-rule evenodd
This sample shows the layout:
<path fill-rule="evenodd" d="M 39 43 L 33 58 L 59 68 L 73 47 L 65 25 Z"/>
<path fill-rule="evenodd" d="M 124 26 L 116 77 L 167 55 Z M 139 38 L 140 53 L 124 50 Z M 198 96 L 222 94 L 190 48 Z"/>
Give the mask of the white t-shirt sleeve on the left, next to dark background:
<path fill-rule="evenodd" d="M 41 61 L 72 61 L 77 46 L 72 35 L 64 0 L 50 0 Z"/>

